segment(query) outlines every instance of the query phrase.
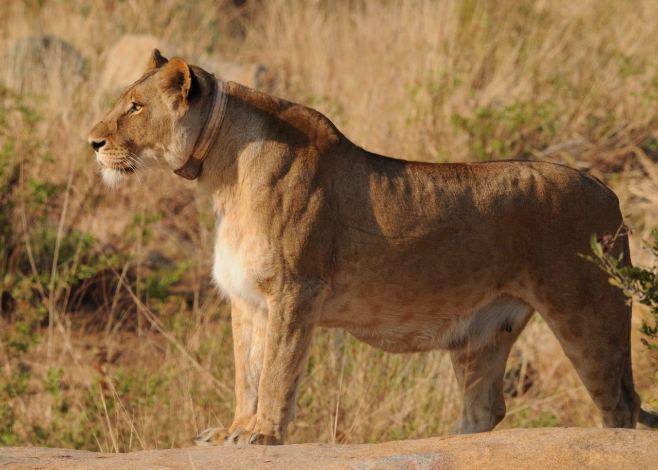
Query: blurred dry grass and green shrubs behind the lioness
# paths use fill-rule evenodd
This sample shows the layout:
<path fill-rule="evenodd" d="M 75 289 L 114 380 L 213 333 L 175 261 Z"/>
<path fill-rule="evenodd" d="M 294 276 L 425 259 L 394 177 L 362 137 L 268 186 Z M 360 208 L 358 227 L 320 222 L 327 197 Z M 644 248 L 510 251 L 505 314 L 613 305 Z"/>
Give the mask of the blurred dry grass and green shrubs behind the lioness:
<path fill-rule="evenodd" d="M 7 0 L 0 3 L 0 444 L 188 446 L 234 409 L 213 214 L 168 170 L 110 190 L 86 136 L 153 47 L 326 114 L 357 145 L 430 162 L 522 158 L 619 195 L 636 264 L 658 226 L 655 0 Z M 658 356 L 634 373 L 658 407 Z M 587 321 L 586 318 L 583 319 Z M 538 316 L 499 428 L 600 426 Z M 287 442 L 443 435 L 445 352 L 320 329 Z"/>

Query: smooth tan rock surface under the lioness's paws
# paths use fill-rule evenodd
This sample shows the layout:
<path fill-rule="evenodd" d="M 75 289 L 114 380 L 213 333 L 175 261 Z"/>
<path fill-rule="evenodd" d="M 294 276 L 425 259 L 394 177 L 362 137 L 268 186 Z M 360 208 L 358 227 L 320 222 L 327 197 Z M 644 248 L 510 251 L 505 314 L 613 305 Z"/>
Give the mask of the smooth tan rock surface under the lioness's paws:
<path fill-rule="evenodd" d="M 230 446 L 100 454 L 0 448 L 0 468 L 520 470 L 658 468 L 658 433 L 630 429 L 508 429 L 478 435 L 344 446 Z"/>

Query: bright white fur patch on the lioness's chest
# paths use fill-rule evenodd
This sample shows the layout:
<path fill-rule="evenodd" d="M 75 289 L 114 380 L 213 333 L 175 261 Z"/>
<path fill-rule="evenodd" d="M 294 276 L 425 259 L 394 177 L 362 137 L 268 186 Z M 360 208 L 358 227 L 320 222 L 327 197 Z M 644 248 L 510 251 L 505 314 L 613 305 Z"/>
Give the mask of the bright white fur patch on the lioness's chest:
<path fill-rule="evenodd" d="M 218 216 L 213 279 L 224 295 L 265 307 L 259 280 L 267 275 L 267 260 L 266 244 L 261 237 L 241 229 L 236 220 Z"/>

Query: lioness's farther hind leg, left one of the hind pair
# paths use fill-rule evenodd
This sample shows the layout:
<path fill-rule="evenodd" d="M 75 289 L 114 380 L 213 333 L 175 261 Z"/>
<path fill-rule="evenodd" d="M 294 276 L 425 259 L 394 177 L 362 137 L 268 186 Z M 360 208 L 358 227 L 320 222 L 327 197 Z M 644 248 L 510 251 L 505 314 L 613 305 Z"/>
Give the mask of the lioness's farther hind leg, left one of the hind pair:
<path fill-rule="evenodd" d="M 507 356 L 534 309 L 501 296 L 474 314 L 465 342 L 451 350 L 463 408 L 452 434 L 491 431 L 505 417 L 503 377 Z"/>

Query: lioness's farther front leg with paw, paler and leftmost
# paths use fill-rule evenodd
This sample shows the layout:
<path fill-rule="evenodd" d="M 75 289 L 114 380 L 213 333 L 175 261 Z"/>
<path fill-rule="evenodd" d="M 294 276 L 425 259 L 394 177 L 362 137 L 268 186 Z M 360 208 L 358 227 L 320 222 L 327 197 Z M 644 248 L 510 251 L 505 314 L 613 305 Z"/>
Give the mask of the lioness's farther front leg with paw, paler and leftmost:
<path fill-rule="evenodd" d="M 234 298 L 231 300 L 231 327 L 236 364 L 236 413 L 229 429 L 209 428 L 194 442 L 197 446 L 221 446 L 228 435 L 247 429 L 255 420 L 258 386 L 263 369 L 267 312 Z"/>

